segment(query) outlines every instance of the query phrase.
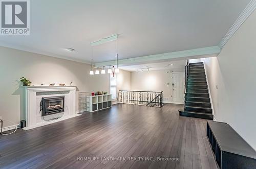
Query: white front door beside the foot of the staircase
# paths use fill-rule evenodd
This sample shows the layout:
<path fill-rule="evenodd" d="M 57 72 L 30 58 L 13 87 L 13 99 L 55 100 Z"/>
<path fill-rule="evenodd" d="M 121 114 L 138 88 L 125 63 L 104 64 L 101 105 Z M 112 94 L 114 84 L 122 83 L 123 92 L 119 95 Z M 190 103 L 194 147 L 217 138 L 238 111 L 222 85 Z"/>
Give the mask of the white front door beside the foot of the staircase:
<path fill-rule="evenodd" d="M 173 73 L 173 102 L 184 103 L 185 73 Z"/>

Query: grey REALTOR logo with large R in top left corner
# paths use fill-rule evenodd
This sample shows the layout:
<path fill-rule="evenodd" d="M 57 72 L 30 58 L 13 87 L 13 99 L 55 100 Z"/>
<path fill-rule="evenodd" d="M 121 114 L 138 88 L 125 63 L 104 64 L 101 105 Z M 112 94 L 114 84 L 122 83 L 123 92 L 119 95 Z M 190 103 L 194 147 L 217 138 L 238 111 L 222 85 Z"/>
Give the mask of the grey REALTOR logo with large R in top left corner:
<path fill-rule="evenodd" d="M 0 0 L 0 35 L 29 35 L 29 0 Z"/>

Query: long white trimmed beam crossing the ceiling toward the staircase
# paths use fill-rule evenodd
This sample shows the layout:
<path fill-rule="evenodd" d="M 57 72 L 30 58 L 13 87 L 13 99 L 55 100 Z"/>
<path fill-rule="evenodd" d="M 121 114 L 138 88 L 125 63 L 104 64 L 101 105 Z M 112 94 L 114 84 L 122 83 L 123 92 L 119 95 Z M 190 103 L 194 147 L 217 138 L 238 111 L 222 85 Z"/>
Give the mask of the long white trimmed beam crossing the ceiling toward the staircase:
<path fill-rule="evenodd" d="M 210 54 L 219 54 L 221 49 L 219 46 L 210 46 L 210 47 L 203 47 L 194 50 L 185 50 L 185 51 L 178 51 L 178 52 L 170 52 L 164 54 L 156 54 L 156 55 L 148 55 L 148 56 L 141 56 L 136 58 L 127 58 L 127 59 L 120 59 L 118 60 L 119 65 L 123 64 L 138 64 L 140 62 L 154 62 L 154 61 L 164 61 L 168 59 L 188 59 L 188 57 L 193 56 L 201 56 L 201 55 L 210 55 Z M 109 66 L 115 65 L 116 60 L 106 61 L 106 62 L 98 62 L 95 64 L 96 67 L 102 66 Z"/>

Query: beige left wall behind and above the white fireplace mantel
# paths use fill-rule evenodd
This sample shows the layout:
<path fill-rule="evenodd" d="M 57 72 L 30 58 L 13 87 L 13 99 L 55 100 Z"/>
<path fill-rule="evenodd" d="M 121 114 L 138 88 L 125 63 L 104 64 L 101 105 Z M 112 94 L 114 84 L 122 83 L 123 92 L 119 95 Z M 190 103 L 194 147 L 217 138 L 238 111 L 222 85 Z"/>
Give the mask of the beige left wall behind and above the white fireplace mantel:
<path fill-rule="evenodd" d="M 109 74 L 89 75 L 89 64 L 48 57 L 44 55 L 9 49 L 0 46 L 0 116 L 19 124 L 24 114 L 24 99 L 18 79 L 28 78 L 32 84 L 49 85 L 65 83 L 77 86 L 81 91 L 109 91 Z M 126 73 L 127 74 L 127 73 Z M 124 78 L 129 88 L 129 78 Z M 12 124 L 5 122 L 4 127 Z"/>

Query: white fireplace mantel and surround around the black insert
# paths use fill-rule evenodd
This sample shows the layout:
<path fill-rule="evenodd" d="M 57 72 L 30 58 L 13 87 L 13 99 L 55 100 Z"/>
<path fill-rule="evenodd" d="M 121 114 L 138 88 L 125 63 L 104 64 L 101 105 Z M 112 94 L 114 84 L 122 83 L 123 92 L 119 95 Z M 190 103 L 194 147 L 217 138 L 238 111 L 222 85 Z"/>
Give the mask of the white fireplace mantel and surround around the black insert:
<path fill-rule="evenodd" d="M 24 130 L 29 130 L 39 126 L 45 126 L 55 122 L 59 122 L 64 119 L 72 118 L 80 114 L 76 114 L 76 86 L 23 86 L 25 89 L 25 103 L 26 103 L 26 123 L 27 126 L 23 128 Z M 38 93 L 47 92 L 47 96 L 57 95 L 54 92 L 67 91 L 65 94 L 65 102 L 67 102 L 67 107 L 65 107 L 65 114 L 57 120 L 52 120 L 51 122 L 44 121 L 38 118 L 40 117 L 40 111 L 38 110 Z M 60 94 L 63 95 L 63 94 Z"/>

